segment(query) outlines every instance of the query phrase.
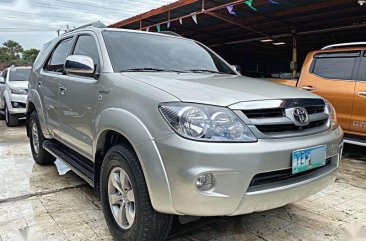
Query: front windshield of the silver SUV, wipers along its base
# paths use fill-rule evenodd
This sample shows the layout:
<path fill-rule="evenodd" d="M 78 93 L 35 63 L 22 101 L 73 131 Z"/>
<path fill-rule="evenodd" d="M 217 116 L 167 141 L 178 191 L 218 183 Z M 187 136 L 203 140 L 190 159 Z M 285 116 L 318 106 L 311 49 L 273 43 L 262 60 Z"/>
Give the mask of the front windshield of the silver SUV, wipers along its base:
<path fill-rule="evenodd" d="M 106 31 L 103 36 L 116 72 L 177 71 L 235 74 L 199 43 L 164 35 Z"/>

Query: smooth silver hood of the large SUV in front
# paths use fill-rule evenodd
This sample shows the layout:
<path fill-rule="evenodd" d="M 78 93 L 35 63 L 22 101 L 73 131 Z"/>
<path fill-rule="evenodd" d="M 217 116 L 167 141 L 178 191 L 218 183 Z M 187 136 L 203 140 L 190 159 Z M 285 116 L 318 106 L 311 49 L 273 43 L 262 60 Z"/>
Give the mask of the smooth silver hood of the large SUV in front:
<path fill-rule="evenodd" d="M 317 95 L 268 80 L 206 73 L 122 73 L 152 85 L 183 102 L 228 106 L 242 101 L 320 98 Z"/>

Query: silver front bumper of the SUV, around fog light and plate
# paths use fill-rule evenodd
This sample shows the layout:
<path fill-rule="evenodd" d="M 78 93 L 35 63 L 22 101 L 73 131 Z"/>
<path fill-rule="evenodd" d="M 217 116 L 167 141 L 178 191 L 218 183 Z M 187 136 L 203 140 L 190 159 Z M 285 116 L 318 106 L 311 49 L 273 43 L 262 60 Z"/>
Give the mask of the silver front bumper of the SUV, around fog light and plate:
<path fill-rule="evenodd" d="M 192 216 L 232 216 L 284 206 L 330 185 L 335 180 L 342 153 L 343 131 L 338 128 L 316 135 L 262 139 L 256 143 L 196 142 L 175 134 L 152 142 L 159 151 L 164 168 L 162 173 L 168 184 L 163 188 L 162 183 L 154 183 L 151 181 L 154 178 L 147 177 L 157 211 Z M 249 186 L 256 174 L 291 168 L 292 151 L 323 144 L 327 145 L 328 165 L 298 177 Z M 140 148 L 148 145 L 145 143 Z M 215 175 L 214 190 L 198 191 L 195 180 L 201 173 Z"/>

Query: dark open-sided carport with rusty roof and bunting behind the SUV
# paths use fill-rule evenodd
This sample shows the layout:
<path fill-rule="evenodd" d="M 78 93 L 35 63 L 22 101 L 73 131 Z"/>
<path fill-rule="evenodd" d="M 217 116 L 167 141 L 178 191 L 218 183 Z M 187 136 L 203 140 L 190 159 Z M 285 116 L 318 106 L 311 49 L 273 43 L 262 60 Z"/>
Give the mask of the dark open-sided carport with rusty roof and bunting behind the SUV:
<path fill-rule="evenodd" d="M 255 9 L 250 5 L 243 0 L 180 0 L 110 27 L 171 30 L 208 45 L 244 73 L 290 77 L 297 76 L 311 50 L 365 41 L 366 6 L 358 0 L 253 0 Z"/>

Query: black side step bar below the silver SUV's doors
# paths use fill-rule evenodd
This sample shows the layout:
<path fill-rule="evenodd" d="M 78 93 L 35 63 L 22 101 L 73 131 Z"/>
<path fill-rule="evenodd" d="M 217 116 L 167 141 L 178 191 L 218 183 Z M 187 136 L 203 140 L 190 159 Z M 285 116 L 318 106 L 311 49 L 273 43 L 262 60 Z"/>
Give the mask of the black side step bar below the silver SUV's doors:
<path fill-rule="evenodd" d="M 80 156 L 57 141 L 47 140 L 43 142 L 43 148 L 57 159 L 65 162 L 71 170 L 94 187 L 94 168 L 90 160 Z"/>

